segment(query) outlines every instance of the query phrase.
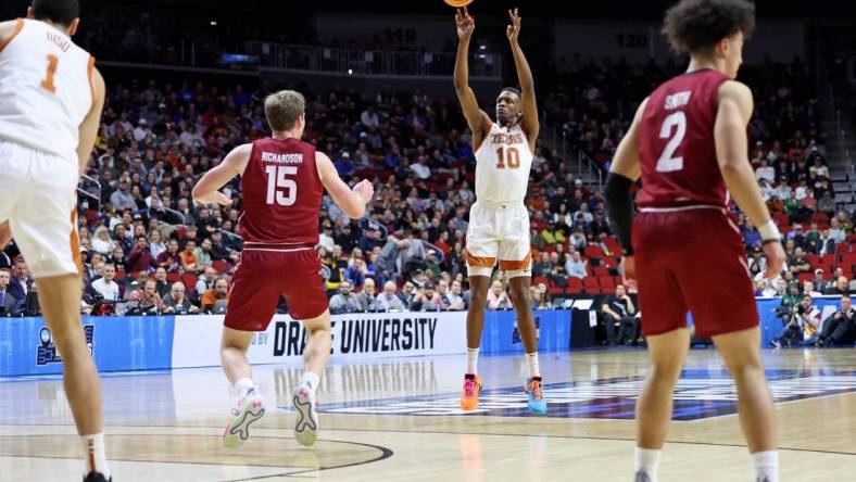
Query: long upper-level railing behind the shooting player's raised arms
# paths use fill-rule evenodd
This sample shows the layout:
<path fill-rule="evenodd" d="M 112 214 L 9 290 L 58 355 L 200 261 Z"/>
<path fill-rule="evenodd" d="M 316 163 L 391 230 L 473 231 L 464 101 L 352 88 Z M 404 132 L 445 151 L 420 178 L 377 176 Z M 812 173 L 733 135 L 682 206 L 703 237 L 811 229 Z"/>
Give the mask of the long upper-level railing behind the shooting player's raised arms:
<path fill-rule="evenodd" d="M 449 77 L 454 52 L 353 50 L 248 41 L 246 53 L 263 67 L 329 72 L 364 76 Z M 487 52 L 470 55 L 470 77 L 500 79 L 502 58 Z"/>

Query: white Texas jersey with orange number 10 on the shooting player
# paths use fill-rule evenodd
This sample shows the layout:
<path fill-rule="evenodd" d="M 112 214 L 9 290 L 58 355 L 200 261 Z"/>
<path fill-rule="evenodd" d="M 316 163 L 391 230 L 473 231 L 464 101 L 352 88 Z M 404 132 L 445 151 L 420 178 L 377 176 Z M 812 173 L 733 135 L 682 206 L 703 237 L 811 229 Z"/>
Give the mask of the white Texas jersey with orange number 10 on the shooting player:
<path fill-rule="evenodd" d="M 519 124 L 505 129 L 494 123 L 476 151 L 476 199 L 523 203 L 531 167 L 529 140 Z"/>

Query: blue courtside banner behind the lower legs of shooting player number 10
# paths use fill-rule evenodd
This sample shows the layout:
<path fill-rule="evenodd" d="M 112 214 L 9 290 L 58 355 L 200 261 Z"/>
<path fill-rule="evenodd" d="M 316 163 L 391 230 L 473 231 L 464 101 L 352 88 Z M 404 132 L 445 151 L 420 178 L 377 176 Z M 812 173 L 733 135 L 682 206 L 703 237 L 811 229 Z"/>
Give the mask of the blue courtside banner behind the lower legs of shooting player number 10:
<path fill-rule="evenodd" d="M 540 352 L 570 348 L 570 310 L 536 310 L 538 350 Z M 481 335 L 481 353 L 523 353 L 515 312 L 487 312 Z"/>

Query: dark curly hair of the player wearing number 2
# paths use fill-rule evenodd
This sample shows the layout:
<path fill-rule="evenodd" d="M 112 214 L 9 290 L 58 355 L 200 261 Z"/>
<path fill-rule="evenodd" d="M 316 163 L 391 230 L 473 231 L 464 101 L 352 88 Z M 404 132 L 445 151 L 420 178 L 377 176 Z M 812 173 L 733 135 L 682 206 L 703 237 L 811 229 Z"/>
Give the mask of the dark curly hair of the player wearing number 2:
<path fill-rule="evenodd" d="M 721 39 L 755 29 L 755 4 L 748 0 L 681 0 L 666 11 L 662 33 L 676 52 L 706 51 Z"/>

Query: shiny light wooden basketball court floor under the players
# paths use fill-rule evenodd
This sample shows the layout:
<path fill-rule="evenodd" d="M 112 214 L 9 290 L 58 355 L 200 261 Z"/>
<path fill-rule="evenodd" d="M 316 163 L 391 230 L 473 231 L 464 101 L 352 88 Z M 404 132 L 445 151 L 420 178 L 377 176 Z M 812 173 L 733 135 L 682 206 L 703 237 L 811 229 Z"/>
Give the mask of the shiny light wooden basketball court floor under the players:
<path fill-rule="evenodd" d="M 218 369 L 106 375 L 114 480 L 629 481 L 644 351 L 542 354 L 546 417 L 526 411 L 519 356 L 483 357 L 480 411 L 457 409 L 463 356 L 332 365 L 314 448 L 292 439 L 298 366 L 255 367 L 268 406 L 242 448 L 221 446 L 234 395 Z M 766 352 L 783 481 L 856 473 L 856 351 Z M 733 384 L 690 353 L 660 480 L 748 481 Z M 0 383 L 0 479 L 79 481 L 81 447 L 59 378 Z"/>

